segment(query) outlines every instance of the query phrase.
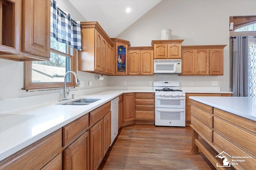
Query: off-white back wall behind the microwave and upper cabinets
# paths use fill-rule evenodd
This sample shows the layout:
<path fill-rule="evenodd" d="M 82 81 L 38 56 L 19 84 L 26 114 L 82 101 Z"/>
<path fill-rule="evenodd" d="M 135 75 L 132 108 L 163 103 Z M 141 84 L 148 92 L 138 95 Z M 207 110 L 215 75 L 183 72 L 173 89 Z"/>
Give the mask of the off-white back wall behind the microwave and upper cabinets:
<path fill-rule="evenodd" d="M 229 17 L 256 15 L 253 0 L 162 0 L 117 38 L 132 47 L 151 46 L 160 39 L 162 29 L 172 29 L 171 39 L 184 39 L 182 45 L 227 45 L 224 48 L 224 76 L 110 76 L 109 86 L 149 86 L 149 81 L 178 80 L 180 86 L 211 86 L 218 81 L 229 91 Z M 134 81 L 136 80 L 136 81 Z M 216 86 L 214 86 L 216 87 Z"/>

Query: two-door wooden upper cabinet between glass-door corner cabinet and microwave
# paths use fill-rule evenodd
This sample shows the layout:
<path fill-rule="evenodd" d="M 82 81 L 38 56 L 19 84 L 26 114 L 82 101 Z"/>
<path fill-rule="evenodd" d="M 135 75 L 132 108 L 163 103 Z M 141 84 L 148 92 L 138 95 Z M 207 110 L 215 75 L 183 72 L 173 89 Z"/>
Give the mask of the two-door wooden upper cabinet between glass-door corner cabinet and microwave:
<path fill-rule="evenodd" d="M 153 47 L 128 47 L 128 75 L 153 75 Z"/>

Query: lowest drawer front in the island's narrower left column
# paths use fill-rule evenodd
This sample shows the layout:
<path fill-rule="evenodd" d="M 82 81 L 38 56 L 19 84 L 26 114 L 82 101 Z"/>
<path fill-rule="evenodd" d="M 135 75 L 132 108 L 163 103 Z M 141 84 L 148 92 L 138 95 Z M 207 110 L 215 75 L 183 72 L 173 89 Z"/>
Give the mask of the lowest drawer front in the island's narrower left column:
<path fill-rule="evenodd" d="M 203 135 L 204 138 L 212 142 L 212 129 L 210 129 L 210 127 L 200 122 L 193 115 L 191 115 L 191 124 L 196 128 L 196 131 Z"/>

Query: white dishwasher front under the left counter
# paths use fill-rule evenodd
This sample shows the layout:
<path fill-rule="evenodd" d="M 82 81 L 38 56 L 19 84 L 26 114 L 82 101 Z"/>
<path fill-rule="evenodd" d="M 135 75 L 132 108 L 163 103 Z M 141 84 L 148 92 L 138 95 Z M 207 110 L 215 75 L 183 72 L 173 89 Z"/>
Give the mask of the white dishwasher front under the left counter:
<path fill-rule="evenodd" d="M 116 139 L 118 134 L 118 100 L 119 98 L 115 98 L 111 100 L 111 144 Z"/>

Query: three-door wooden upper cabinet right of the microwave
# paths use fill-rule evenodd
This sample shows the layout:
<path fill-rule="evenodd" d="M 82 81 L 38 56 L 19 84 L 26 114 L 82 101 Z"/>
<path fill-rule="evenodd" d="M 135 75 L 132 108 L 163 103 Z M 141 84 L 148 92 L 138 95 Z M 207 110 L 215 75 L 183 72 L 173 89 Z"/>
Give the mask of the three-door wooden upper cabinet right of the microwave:
<path fill-rule="evenodd" d="M 181 75 L 223 75 L 226 45 L 182 46 Z"/>

